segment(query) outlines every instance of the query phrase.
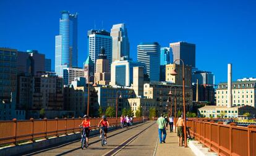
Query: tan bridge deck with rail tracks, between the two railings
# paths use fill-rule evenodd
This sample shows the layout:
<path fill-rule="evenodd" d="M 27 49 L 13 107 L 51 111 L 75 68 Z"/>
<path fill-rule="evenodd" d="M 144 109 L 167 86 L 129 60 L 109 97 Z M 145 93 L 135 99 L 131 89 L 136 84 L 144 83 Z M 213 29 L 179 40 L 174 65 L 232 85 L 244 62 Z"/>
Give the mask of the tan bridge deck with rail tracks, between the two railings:
<path fill-rule="evenodd" d="M 88 149 L 80 149 L 80 141 L 70 142 L 27 155 L 192 155 L 189 148 L 177 147 L 177 137 L 168 133 L 166 144 L 158 144 L 155 121 L 118 129 L 108 133 L 108 145 L 101 147 L 99 136 L 90 138 Z M 125 143 L 124 143 L 125 142 Z M 176 152 L 174 152 L 176 150 Z"/>

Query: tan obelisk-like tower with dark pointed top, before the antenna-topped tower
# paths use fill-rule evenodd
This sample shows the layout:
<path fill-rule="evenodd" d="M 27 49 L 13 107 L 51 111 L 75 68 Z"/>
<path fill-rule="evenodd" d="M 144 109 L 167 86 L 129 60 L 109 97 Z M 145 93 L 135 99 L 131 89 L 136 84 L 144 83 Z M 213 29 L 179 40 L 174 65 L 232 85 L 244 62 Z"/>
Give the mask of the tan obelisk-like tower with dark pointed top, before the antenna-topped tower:
<path fill-rule="evenodd" d="M 110 82 L 110 73 L 109 73 L 109 61 L 105 54 L 104 47 L 101 47 L 101 52 L 98 55 L 96 60 L 96 72 L 94 73 L 95 81 L 97 84 L 106 85 Z"/>

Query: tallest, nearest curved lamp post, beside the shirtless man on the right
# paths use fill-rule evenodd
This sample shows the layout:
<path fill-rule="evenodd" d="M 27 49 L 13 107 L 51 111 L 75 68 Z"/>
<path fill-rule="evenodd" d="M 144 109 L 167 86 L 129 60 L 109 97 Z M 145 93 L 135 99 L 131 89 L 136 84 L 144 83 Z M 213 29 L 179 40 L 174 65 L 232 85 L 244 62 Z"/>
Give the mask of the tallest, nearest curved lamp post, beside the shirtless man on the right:
<path fill-rule="evenodd" d="M 182 84 L 183 84 L 183 118 L 184 118 L 184 142 L 185 142 L 185 146 L 187 147 L 187 125 L 186 125 L 186 101 L 185 101 L 185 76 L 184 76 L 184 62 L 182 59 L 176 59 L 174 60 L 173 64 L 174 64 L 174 69 L 171 70 L 171 75 L 175 76 L 177 75 L 177 72 L 175 70 L 175 62 L 177 60 L 180 60 L 182 62 Z"/>

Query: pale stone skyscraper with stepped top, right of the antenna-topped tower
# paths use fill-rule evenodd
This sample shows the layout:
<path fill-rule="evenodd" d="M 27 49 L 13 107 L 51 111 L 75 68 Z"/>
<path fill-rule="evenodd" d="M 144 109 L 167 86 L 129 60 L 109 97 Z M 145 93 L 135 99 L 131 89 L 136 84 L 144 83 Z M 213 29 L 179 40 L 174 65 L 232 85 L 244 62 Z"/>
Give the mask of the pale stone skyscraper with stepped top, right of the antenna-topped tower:
<path fill-rule="evenodd" d="M 110 36 L 113 39 L 112 62 L 121 57 L 129 58 L 130 43 L 127 28 L 124 23 L 113 25 Z"/>

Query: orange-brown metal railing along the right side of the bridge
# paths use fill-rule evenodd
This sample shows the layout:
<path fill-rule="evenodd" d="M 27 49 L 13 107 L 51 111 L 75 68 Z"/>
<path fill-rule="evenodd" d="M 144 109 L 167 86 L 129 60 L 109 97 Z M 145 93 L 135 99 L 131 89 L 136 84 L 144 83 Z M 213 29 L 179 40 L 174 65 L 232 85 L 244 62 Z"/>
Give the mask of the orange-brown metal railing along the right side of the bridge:
<path fill-rule="evenodd" d="M 256 126 L 236 126 L 235 123 L 188 120 L 190 134 L 218 155 L 256 155 Z"/>

